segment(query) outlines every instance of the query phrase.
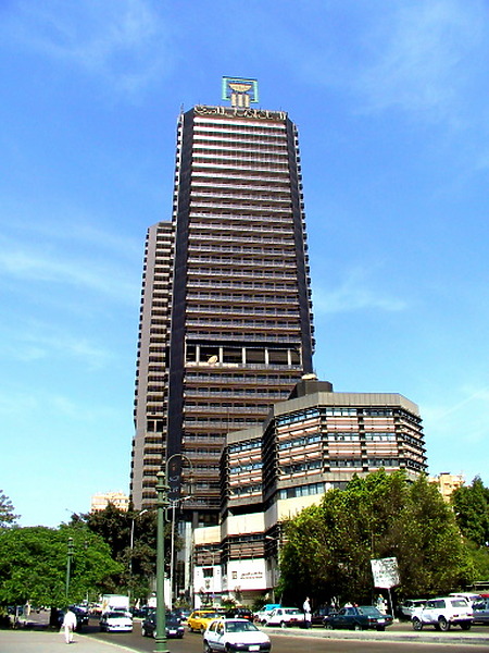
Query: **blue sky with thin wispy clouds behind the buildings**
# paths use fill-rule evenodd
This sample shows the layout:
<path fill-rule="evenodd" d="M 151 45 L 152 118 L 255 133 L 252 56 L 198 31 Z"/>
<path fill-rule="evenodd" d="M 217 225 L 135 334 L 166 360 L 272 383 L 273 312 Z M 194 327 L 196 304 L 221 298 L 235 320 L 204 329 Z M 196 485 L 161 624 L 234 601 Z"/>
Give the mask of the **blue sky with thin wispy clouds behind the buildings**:
<path fill-rule="evenodd" d="M 143 242 L 223 75 L 299 127 L 322 380 L 417 403 L 489 484 L 489 8 L 0 2 L 0 489 L 23 526 L 128 490 Z"/>

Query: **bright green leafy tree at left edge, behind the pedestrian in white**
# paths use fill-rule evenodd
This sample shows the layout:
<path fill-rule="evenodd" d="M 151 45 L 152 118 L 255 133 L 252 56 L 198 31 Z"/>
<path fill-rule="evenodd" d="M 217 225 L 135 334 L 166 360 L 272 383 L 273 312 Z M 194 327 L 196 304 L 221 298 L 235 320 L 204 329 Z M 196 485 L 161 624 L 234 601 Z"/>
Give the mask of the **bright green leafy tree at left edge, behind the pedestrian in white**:
<path fill-rule="evenodd" d="M 67 542 L 73 538 L 66 600 Z M 0 535 L 0 603 L 62 606 L 98 593 L 120 565 L 87 528 L 12 528 Z"/>

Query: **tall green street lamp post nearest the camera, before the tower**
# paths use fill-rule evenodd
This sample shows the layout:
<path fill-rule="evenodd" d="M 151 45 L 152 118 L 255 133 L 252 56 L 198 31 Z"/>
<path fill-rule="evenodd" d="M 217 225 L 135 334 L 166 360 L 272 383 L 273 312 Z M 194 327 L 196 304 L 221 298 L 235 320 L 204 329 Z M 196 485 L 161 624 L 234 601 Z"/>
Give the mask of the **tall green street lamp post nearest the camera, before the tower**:
<path fill-rule="evenodd" d="M 170 653 L 166 648 L 166 605 L 165 605 L 165 513 L 168 505 L 165 472 L 156 473 L 156 636 L 154 653 Z"/>

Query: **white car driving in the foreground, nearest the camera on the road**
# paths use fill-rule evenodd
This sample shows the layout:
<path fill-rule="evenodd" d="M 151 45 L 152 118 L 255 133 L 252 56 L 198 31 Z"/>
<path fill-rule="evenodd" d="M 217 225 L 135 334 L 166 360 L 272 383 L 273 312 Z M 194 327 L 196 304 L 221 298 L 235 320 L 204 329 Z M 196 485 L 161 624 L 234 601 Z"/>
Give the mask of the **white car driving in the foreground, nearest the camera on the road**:
<path fill-rule="evenodd" d="M 215 619 L 203 634 L 204 653 L 256 651 L 268 653 L 269 637 L 248 619 Z"/>

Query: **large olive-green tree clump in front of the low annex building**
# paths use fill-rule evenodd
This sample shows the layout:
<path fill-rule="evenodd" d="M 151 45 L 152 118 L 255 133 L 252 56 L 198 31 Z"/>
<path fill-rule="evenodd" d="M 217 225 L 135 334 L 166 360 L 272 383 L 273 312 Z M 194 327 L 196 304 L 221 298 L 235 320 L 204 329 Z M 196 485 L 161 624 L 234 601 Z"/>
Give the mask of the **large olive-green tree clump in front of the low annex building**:
<path fill-rule="evenodd" d="M 371 602 L 372 558 L 398 559 L 405 595 L 448 592 L 474 574 L 451 508 L 425 477 L 409 483 L 402 471 L 330 490 L 286 522 L 285 539 L 279 591 L 289 602 Z"/>

